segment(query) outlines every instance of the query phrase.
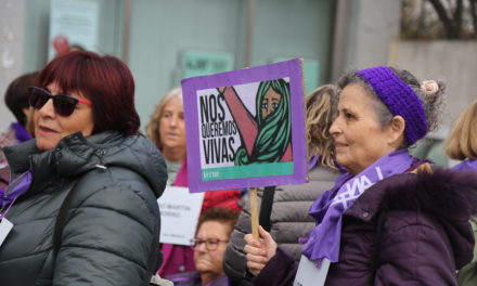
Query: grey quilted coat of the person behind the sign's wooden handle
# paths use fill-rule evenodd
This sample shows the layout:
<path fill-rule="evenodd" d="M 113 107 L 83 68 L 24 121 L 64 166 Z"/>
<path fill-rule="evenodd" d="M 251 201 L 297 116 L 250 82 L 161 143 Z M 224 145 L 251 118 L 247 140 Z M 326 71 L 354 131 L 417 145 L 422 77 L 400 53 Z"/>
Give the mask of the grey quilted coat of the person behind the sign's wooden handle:
<path fill-rule="evenodd" d="M 297 261 L 302 248 L 298 238 L 308 237 L 308 232 L 314 227 L 314 220 L 308 216 L 308 209 L 321 194 L 332 188 L 337 176 L 337 171 L 318 166 L 310 170 L 308 183 L 279 186 L 275 190 L 270 216 L 270 233 L 279 246 Z M 258 197 L 260 206 L 262 190 L 258 191 Z M 250 229 L 249 204 L 245 204 L 223 258 L 223 270 L 234 281 L 240 281 L 246 271 L 244 236 L 252 233 Z"/>

